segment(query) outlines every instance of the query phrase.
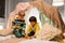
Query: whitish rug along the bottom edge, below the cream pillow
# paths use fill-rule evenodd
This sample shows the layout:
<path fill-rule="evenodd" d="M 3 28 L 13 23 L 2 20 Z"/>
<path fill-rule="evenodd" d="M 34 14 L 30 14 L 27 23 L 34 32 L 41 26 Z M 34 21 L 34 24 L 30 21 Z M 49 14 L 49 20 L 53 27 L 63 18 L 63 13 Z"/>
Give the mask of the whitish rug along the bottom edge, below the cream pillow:
<path fill-rule="evenodd" d="M 22 41 L 20 43 L 60 43 L 60 42 L 54 42 L 54 41 L 42 41 L 39 39 L 32 39 L 32 40 L 26 40 L 26 41 Z"/>

